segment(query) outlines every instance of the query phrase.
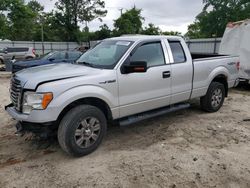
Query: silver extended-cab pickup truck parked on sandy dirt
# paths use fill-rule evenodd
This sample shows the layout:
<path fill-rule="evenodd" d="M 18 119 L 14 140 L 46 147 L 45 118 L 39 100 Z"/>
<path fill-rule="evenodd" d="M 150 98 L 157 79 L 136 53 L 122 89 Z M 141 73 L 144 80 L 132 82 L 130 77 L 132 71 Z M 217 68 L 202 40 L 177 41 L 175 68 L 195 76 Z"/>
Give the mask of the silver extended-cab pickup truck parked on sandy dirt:
<path fill-rule="evenodd" d="M 112 122 L 128 125 L 187 108 L 194 98 L 203 110 L 218 111 L 239 82 L 239 66 L 238 57 L 190 54 L 181 37 L 111 38 L 75 64 L 14 74 L 5 109 L 19 132 L 56 133 L 64 151 L 83 156 Z"/>

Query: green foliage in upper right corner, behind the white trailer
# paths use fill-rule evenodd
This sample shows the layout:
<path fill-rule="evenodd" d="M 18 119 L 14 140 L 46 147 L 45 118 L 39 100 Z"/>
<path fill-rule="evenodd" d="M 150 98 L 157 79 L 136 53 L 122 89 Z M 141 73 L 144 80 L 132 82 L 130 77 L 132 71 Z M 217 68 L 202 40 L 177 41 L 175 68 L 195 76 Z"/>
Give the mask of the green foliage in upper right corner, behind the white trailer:
<path fill-rule="evenodd" d="M 249 0 L 204 0 L 203 11 L 189 26 L 186 36 L 222 37 L 228 22 L 250 18 Z"/>

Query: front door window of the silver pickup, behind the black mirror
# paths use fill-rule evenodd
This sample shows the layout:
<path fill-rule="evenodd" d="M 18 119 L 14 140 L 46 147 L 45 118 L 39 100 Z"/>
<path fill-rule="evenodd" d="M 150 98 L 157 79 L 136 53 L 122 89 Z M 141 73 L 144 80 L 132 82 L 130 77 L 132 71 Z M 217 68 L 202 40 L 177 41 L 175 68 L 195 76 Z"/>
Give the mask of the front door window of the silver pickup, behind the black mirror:
<path fill-rule="evenodd" d="M 146 43 L 140 46 L 130 58 L 130 62 L 145 61 L 148 67 L 165 64 L 160 42 Z"/>

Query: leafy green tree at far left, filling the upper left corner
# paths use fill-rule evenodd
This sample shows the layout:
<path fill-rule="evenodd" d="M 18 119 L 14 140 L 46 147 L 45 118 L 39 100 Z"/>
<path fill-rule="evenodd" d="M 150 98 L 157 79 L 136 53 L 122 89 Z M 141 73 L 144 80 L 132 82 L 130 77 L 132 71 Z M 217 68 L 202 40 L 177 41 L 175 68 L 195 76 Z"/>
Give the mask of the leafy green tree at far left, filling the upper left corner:
<path fill-rule="evenodd" d="M 1 0 L 2 38 L 34 40 L 37 32 L 39 11 L 42 10 L 43 7 L 35 0 L 30 1 L 28 4 L 25 4 L 24 0 Z M 7 33 L 6 30 L 8 30 Z"/>

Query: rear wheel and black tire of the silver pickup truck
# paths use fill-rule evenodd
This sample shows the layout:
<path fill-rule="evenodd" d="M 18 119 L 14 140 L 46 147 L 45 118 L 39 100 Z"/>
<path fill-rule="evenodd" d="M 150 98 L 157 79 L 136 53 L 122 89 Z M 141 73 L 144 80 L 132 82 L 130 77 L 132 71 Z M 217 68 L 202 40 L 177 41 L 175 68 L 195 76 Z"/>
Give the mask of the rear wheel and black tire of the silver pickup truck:
<path fill-rule="evenodd" d="M 218 91 L 221 94 L 217 94 Z M 219 82 L 212 82 L 208 88 L 207 94 L 201 97 L 201 108 L 206 112 L 217 112 L 225 100 L 225 86 Z"/>

